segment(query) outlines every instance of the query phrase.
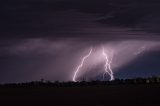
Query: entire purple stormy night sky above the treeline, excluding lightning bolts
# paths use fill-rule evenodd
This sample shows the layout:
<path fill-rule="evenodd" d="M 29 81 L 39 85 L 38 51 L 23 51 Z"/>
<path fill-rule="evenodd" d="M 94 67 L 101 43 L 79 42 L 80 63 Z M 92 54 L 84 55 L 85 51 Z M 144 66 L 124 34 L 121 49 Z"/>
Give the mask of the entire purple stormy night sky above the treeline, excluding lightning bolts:
<path fill-rule="evenodd" d="M 0 83 L 160 76 L 158 0 L 1 0 Z M 108 76 L 109 77 L 109 76 Z"/>

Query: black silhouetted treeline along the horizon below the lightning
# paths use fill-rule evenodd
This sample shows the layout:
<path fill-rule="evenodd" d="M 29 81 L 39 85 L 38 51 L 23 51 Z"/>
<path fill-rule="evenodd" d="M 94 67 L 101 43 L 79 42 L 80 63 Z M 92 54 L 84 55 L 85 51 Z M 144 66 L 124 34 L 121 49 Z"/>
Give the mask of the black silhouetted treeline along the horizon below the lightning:
<path fill-rule="evenodd" d="M 0 87 L 81 87 L 81 86 L 105 86 L 119 84 L 160 84 L 160 77 L 133 78 L 133 79 L 115 79 L 113 81 L 79 81 L 79 82 L 51 82 L 44 79 L 26 83 L 6 83 L 0 84 Z"/>

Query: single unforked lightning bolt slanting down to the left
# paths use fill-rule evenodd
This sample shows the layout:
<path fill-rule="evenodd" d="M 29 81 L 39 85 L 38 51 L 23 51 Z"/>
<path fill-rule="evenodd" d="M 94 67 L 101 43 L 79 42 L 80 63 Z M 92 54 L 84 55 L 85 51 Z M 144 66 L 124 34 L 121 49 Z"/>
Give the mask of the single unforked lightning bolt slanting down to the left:
<path fill-rule="evenodd" d="M 90 49 L 89 53 L 82 58 L 81 64 L 77 67 L 77 69 L 74 73 L 74 76 L 73 76 L 73 79 L 72 79 L 74 82 L 76 82 L 76 77 L 77 77 L 78 72 L 80 71 L 80 68 L 83 67 L 83 64 L 84 64 L 85 60 L 91 55 L 91 53 L 92 53 L 92 48 Z"/>

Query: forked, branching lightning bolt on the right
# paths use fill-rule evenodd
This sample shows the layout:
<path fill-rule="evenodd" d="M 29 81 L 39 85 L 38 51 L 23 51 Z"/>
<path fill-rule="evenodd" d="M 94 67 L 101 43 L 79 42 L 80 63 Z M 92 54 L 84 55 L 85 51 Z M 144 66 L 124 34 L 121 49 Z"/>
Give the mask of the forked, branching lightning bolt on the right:
<path fill-rule="evenodd" d="M 103 74 L 103 78 L 104 78 L 105 74 L 108 73 L 108 75 L 110 76 L 110 81 L 112 81 L 112 80 L 114 80 L 113 71 L 111 69 L 112 58 L 109 61 L 104 47 L 102 47 L 102 49 L 103 49 L 103 52 L 102 52 L 103 56 L 105 56 L 105 60 L 106 60 L 106 63 L 105 63 L 105 73 Z"/>

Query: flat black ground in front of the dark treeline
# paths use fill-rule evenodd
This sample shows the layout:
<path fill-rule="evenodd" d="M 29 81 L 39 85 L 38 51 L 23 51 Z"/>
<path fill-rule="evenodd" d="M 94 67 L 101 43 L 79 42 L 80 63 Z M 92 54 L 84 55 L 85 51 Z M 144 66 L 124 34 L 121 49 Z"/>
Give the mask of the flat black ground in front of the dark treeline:
<path fill-rule="evenodd" d="M 0 88 L 0 106 L 160 106 L 160 84 Z"/>

